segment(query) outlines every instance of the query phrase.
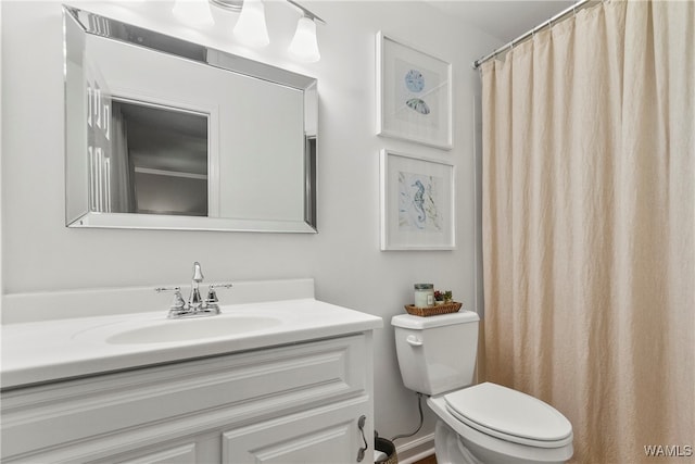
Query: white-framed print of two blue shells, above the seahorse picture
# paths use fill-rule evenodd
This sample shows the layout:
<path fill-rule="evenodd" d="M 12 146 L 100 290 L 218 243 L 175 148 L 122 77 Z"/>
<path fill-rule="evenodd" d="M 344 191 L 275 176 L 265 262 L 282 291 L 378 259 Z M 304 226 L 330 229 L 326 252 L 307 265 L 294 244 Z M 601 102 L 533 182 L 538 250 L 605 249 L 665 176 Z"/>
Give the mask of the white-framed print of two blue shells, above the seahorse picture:
<path fill-rule="evenodd" d="M 377 34 L 377 135 L 453 148 L 452 65 Z"/>

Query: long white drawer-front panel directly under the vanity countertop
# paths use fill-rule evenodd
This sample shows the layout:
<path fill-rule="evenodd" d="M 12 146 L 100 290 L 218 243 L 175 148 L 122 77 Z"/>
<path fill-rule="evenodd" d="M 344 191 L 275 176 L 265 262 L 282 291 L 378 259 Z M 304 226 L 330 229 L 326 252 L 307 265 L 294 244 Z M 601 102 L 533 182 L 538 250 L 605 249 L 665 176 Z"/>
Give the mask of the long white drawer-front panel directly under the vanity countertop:
<path fill-rule="evenodd" d="M 369 394 L 366 351 L 359 334 L 10 390 L 2 461 L 100 459 Z"/>

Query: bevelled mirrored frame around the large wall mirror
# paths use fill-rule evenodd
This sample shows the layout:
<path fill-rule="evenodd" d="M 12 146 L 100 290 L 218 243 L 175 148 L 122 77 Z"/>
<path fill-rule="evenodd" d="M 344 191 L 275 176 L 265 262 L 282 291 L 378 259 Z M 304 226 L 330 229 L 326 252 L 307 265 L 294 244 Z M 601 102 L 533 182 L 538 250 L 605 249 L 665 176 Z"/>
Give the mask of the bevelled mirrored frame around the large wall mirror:
<path fill-rule="evenodd" d="M 182 61 L 193 61 L 215 68 L 262 79 L 271 84 L 300 90 L 304 95 L 304 217 L 298 221 L 245 220 L 230 217 L 201 217 L 167 214 L 105 213 L 89 208 L 89 178 L 87 170 L 77 166 L 87 159 L 87 136 L 84 128 L 86 115 L 86 95 L 76 101 L 68 81 L 68 36 L 80 33 L 122 41 L 155 52 L 174 55 Z M 75 29 L 75 30 L 73 30 Z M 110 17 L 101 16 L 75 7 L 63 5 L 63 50 L 64 50 L 64 91 L 65 91 L 65 225 L 67 227 L 132 228 L 132 229 L 174 229 L 174 230 L 225 230 L 225 231 L 264 231 L 264 233 L 317 233 L 316 228 L 316 147 L 318 125 L 317 79 L 304 76 L 269 64 L 256 62 L 243 57 L 227 53 L 198 43 L 181 40 L 161 33 L 134 26 Z M 129 34 L 136 33 L 136 34 Z M 147 45 L 135 37 L 146 34 Z M 74 41 L 75 38 L 72 38 Z M 81 40 L 80 70 L 84 68 L 86 41 Z M 74 50 L 73 50 L 74 54 Z M 84 73 L 84 71 L 83 71 Z M 72 76 L 71 76 L 72 77 Z M 84 90 L 84 89 L 83 89 Z M 83 93 L 85 93 L 83 91 Z M 73 97 L 71 100 L 70 97 Z M 81 106 L 81 108 L 80 108 Z M 79 121 L 76 121 L 79 120 Z M 76 140 L 75 140 L 76 139 Z M 208 150 L 210 148 L 208 140 Z M 216 146 L 216 143 L 213 143 Z M 208 152 L 208 159 L 213 155 Z"/>

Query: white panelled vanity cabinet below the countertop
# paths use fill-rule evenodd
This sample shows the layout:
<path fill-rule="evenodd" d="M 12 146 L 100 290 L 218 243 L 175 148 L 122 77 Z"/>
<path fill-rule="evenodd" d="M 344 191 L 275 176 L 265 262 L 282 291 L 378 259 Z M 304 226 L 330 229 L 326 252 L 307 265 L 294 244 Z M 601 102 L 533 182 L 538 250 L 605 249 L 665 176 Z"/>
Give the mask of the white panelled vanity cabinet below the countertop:
<path fill-rule="evenodd" d="M 50 368 L 50 367 L 47 367 Z M 354 463 L 371 331 L 2 392 L 2 462 Z"/>

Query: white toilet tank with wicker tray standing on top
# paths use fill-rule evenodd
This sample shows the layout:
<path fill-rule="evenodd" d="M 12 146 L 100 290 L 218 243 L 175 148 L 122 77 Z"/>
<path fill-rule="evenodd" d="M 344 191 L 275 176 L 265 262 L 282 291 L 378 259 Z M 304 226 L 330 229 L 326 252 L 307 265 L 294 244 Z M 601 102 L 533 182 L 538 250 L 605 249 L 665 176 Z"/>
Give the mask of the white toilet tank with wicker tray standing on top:
<path fill-rule="evenodd" d="M 440 394 L 473 383 L 478 322 L 472 311 L 420 317 L 393 316 L 403 384 L 425 394 Z"/>

